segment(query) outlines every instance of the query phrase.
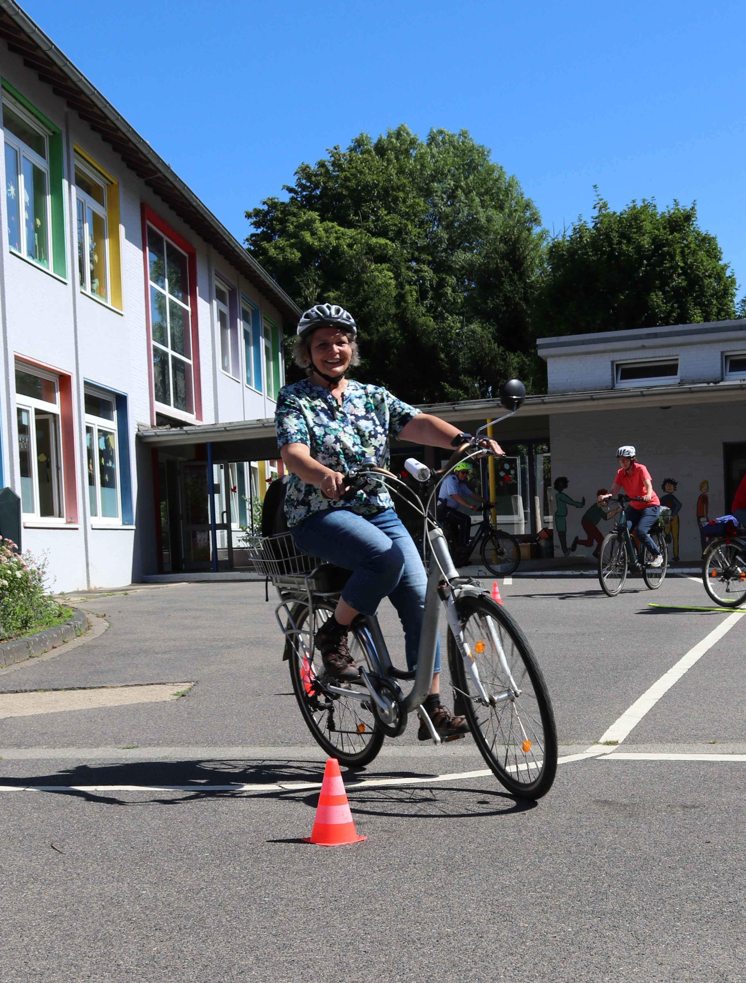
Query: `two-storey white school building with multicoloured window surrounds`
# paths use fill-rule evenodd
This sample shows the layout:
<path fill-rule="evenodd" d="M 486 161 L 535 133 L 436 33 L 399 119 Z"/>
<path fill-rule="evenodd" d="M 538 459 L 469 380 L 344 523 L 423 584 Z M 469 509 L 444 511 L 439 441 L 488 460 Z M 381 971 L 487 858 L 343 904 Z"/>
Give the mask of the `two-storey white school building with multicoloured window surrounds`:
<path fill-rule="evenodd" d="M 225 565 L 276 462 L 139 434 L 271 418 L 300 312 L 12 0 L 0 77 L 0 484 L 22 548 L 58 591 Z"/>

